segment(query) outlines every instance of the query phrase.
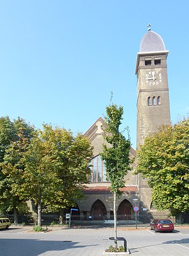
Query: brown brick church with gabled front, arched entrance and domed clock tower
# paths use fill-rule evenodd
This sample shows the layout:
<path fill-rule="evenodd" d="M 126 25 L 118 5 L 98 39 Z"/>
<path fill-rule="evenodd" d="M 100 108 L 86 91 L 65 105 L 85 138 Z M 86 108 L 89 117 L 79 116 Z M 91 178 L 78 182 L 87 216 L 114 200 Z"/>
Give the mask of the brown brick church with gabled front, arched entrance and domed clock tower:
<path fill-rule="evenodd" d="M 144 138 L 151 132 L 157 131 L 162 124 L 171 124 L 170 103 L 167 79 L 167 56 L 165 44 L 160 35 L 151 31 L 142 37 L 139 52 L 136 57 L 135 74 L 137 77 L 137 142 L 144 143 Z M 93 216 L 94 220 L 113 219 L 113 195 L 106 180 L 106 170 L 99 153 L 102 152 L 104 130 L 106 124 L 103 118 L 96 122 L 84 134 L 94 147 L 89 184 L 84 189 L 86 198 L 77 202 L 79 213 L 83 218 Z M 136 157 L 136 151 L 131 148 L 130 157 Z M 151 201 L 151 189 L 141 175 L 135 175 L 136 161 L 132 164 L 133 170 L 125 177 L 125 187 L 122 196 L 118 199 L 118 220 L 132 218 L 133 207 L 139 207 L 139 215 L 149 212 L 157 214 Z M 158 213 L 159 214 L 159 213 Z"/>

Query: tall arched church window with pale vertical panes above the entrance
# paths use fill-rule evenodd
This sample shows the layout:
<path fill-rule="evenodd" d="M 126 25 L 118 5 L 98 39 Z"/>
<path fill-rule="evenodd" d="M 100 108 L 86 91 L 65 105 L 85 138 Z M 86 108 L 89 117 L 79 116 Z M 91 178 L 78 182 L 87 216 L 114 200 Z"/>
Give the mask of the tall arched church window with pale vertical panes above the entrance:
<path fill-rule="evenodd" d="M 89 176 L 89 182 L 107 182 L 105 163 L 103 163 L 100 155 L 96 155 L 96 157 L 92 159 L 90 164 L 92 165 L 92 167 L 90 167 L 91 174 Z"/>

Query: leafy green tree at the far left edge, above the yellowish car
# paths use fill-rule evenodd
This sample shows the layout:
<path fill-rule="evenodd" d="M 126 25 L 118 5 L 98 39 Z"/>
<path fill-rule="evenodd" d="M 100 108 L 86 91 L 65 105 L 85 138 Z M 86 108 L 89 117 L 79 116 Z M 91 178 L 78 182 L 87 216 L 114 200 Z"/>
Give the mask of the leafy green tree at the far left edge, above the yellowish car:
<path fill-rule="evenodd" d="M 4 120 L 7 124 L 8 118 L 6 117 Z M 23 171 L 24 166 L 20 160 L 27 150 L 28 144 L 30 144 L 34 127 L 27 124 L 21 118 L 15 119 L 14 122 L 9 121 L 8 123 L 8 128 L 6 125 L 5 130 L 0 129 L 1 132 L 6 131 L 6 136 L 9 138 L 2 144 L 5 151 L 1 160 L 1 208 L 6 212 L 14 210 L 14 222 L 17 223 L 18 212 L 21 209 L 25 209 L 28 212 L 28 208 L 25 202 L 18 195 L 15 195 L 14 190 L 12 190 L 14 183 L 18 183 L 19 176 L 12 177 L 9 176 L 9 173 L 12 170 L 17 170 L 18 173 Z"/>

